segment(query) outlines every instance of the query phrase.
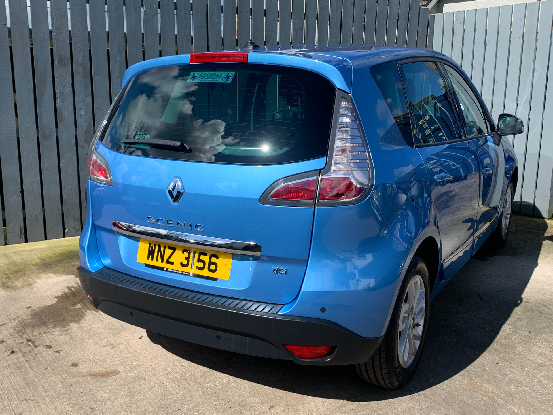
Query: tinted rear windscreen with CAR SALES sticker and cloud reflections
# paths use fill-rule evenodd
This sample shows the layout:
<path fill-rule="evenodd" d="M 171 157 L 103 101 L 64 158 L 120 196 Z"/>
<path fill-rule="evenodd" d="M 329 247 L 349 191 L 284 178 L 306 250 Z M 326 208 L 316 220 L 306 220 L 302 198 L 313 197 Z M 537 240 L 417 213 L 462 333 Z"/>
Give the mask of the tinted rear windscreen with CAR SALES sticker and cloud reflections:
<path fill-rule="evenodd" d="M 300 69 L 255 64 L 151 69 L 131 80 L 102 142 L 122 153 L 199 162 L 276 164 L 323 157 L 334 95 L 328 80 Z"/>

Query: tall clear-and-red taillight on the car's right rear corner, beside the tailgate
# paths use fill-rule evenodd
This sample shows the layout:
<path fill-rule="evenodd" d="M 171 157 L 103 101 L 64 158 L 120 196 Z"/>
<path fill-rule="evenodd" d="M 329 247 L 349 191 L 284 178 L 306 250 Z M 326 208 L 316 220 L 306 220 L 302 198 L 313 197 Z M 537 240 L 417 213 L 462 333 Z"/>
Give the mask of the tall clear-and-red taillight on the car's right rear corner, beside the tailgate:
<path fill-rule="evenodd" d="M 321 177 L 320 202 L 349 203 L 371 188 L 373 167 L 353 103 L 340 97 L 330 169 Z"/>

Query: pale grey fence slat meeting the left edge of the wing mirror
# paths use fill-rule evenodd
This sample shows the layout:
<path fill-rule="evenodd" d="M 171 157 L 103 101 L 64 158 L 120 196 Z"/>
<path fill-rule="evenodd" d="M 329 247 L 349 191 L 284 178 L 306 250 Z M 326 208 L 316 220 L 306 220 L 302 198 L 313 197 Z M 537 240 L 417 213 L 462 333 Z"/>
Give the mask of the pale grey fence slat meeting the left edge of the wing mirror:
<path fill-rule="evenodd" d="M 507 81 L 507 64 L 509 57 L 509 38 L 513 6 L 503 6 L 499 10 L 499 27 L 497 35 L 497 57 L 495 58 L 495 80 L 492 98 L 492 118 L 497 120 L 503 112 L 505 103 L 505 82 Z"/>

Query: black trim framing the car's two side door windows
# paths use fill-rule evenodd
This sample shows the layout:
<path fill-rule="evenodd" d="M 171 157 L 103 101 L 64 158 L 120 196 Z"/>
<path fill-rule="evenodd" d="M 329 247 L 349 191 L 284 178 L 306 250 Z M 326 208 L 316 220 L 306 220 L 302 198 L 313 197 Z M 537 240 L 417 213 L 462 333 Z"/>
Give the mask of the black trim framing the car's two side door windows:
<path fill-rule="evenodd" d="M 412 116 L 413 114 L 411 112 L 411 108 L 409 108 L 409 100 L 407 99 L 407 93 L 405 91 L 405 82 L 403 80 L 403 76 L 401 76 L 401 70 L 399 69 L 399 66 L 400 65 L 405 65 L 405 64 L 410 64 L 410 63 L 416 63 L 416 62 L 435 62 L 437 64 L 437 66 L 440 70 L 440 75 L 441 75 L 441 77 L 444 80 L 444 83 L 446 85 L 446 93 L 447 93 L 448 97 L 453 101 L 453 105 L 455 106 L 455 108 L 453 108 L 453 113 L 455 113 L 457 123 L 459 123 L 459 125 L 463 126 L 463 131 L 461 132 L 463 137 L 455 139 L 455 140 L 448 140 L 448 141 L 445 141 L 445 142 L 436 142 L 436 143 L 420 143 L 419 144 L 419 143 L 415 142 L 414 128 L 416 128 L 416 126 L 413 125 L 413 116 Z M 447 59 L 439 58 L 438 56 L 420 56 L 420 57 L 411 57 L 411 58 L 398 59 L 398 60 L 395 61 L 395 63 L 398 65 L 399 76 L 400 76 L 400 79 L 401 79 L 401 85 L 403 86 L 403 93 L 405 95 L 405 102 L 407 102 L 407 106 L 408 106 L 409 120 L 411 122 L 411 134 L 413 135 L 413 142 L 415 144 L 415 148 L 432 147 L 432 146 L 444 146 L 446 144 L 459 143 L 459 142 L 463 142 L 463 141 L 468 142 L 468 141 L 473 140 L 473 139 L 488 137 L 488 136 L 492 136 L 494 134 L 494 132 L 495 132 L 495 123 L 492 121 L 492 122 L 490 122 L 490 125 L 493 127 L 493 131 L 490 134 L 482 134 L 481 136 L 470 137 L 470 138 L 465 137 L 466 136 L 466 132 L 465 132 L 466 123 L 465 123 L 464 118 L 461 117 L 461 115 L 459 113 L 459 107 L 458 107 L 459 102 L 458 102 L 457 95 L 455 95 L 455 91 L 453 91 L 453 87 L 451 86 L 451 81 L 450 81 L 449 77 L 447 76 L 447 74 L 445 72 L 445 69 L 443 68 L 444 64 L 447 64 L 451 68 L 457 70 L 455 68 L 455 66 L 450 61 L 448 61 Z M 484 112 L 484 114 L 488 118 L 488 122 L 489 122 L 491 120 L 491 115 L 489 115 L 488 107 L 482 101 L 482 97 L 480 96 L 480 94 L 478 94 L 477 91 L 474 90 L 472 82 L 467 80 L 467 78 L 465 76 L 463 76 L 463 74 L 460 71 L 457 70 L 457 72 L 458 72 L 458 74 L 460 74 L 462 76 L 463 80 L 465 80 L 465 82 L 467 82 L 469 87 L 471 87 L 471 90 L 472 90 L 473 94 L 476 95 L 476 97 L 478 98 L 478 102 L 480 103 L 480 105 L 485 108 L 486 111 Z"/>

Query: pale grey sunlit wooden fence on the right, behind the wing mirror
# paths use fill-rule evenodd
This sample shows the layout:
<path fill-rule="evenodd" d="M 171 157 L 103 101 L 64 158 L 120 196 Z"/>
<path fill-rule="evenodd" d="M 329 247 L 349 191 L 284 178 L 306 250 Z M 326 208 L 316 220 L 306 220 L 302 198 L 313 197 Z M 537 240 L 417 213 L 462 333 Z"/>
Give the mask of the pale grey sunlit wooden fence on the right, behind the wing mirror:
<path fill-rule="evenodd" d="M 432 20 L 429 48 L 461 64 L 495 120 L 509 112 L 524 121 L 524 134 L 511 138 L 519 162 L 515 209 L 553 216 L 553 1 L 441 13 Z"/>

